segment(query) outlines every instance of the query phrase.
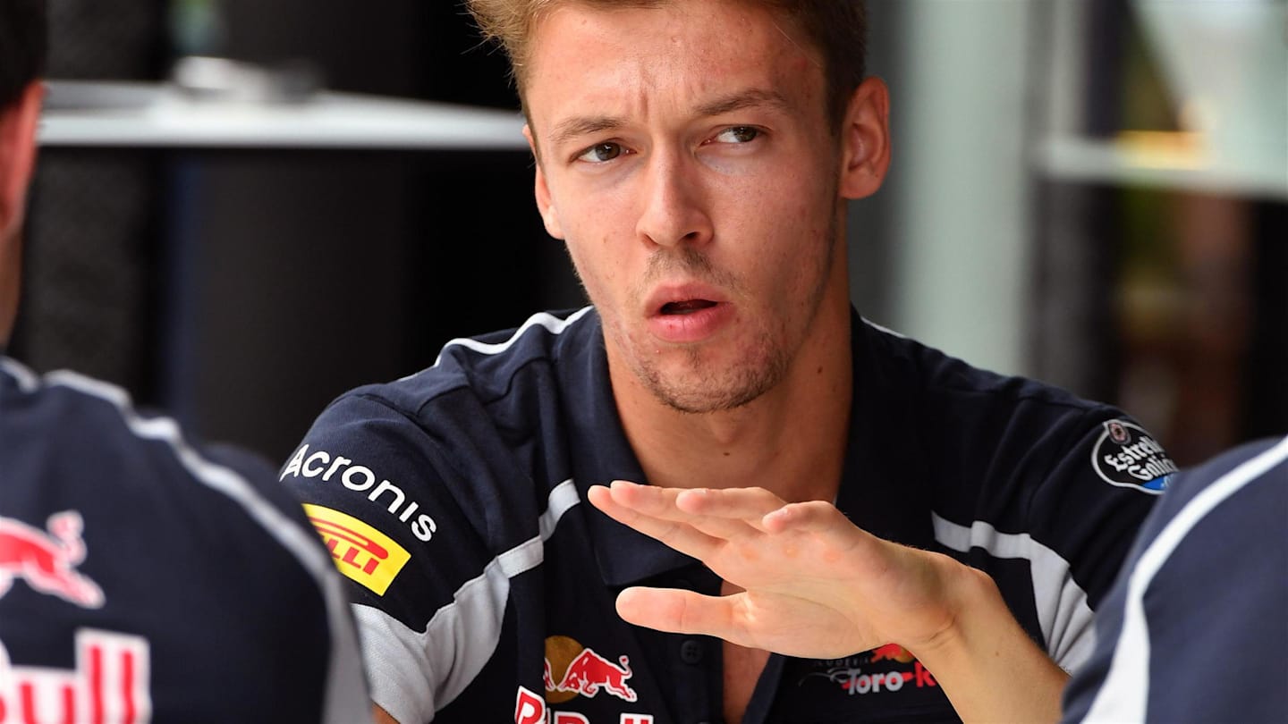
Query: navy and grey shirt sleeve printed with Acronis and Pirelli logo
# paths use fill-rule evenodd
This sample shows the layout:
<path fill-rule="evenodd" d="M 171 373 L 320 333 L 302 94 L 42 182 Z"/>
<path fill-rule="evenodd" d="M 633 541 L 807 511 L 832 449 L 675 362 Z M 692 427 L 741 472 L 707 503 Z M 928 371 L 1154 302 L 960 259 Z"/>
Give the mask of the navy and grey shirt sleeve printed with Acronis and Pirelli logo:
<path fill-rule="evenodd" d="M 406 411 L 349 394 L 281 472 L 345 577 L 372 701 L 402 724 L 430 721 L 459 693 L 473 660 L 491 654 L 466 639 L 505 608 L 507 581 L 443 447 Z"/>

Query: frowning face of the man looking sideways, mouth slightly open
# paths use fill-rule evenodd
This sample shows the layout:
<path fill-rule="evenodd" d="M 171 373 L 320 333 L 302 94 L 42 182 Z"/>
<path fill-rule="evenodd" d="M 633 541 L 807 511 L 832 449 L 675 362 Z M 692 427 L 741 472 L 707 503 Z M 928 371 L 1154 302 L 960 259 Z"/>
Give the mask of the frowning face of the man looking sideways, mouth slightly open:
<path fill-rule="evenodd" d="M 783 379 L 846 296 L 841 161 L 818 53 L 768 10 L 568 3 L 526 84 L 537 202 L 604 323 L 609 363 L 689 412 Z"/>

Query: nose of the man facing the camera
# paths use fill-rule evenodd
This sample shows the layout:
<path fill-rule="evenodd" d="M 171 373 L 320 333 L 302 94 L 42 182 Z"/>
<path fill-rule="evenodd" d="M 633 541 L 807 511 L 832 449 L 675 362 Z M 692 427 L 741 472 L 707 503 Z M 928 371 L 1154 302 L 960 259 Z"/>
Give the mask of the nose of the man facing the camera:
<path fill-rule="evenodd" d="M 650 158 L 638 225 L 641 238 L 658 246 L 701 245 L 711 240 L 711 218 L 698 173 L 683 157 L 657 155 Z"/>

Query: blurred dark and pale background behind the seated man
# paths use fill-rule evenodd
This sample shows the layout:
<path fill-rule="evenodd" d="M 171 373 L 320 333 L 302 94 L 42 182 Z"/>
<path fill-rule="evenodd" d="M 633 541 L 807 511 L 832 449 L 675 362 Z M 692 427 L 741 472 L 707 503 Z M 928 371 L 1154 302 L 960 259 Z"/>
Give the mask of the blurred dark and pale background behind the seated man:
<path fill-rule="evenodd" d="M 49 3 L 35 368 L 283 460 L 345 389 L 583 303 L 455 0 Z M 1288 1 L 868 5 L 895 153 L 850 209 L 860 312 L 1181 464 L 1288 433 Z"/>

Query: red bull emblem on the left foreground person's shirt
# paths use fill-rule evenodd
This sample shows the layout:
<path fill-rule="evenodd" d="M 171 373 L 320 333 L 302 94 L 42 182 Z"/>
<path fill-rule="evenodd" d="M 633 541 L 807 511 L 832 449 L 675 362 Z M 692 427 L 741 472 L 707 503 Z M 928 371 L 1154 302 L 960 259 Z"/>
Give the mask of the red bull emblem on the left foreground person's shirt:
<path fill-rule="evenodd" d="M 82 608 L 100 608 L 103 590 L 76 571 L 85 560 L 82 527 L 75 510 L 50 515 L 45 531 L 0 518 L 0 596 L 9 593 L 15 578 L 22 578 L 32 590 Z"/>

